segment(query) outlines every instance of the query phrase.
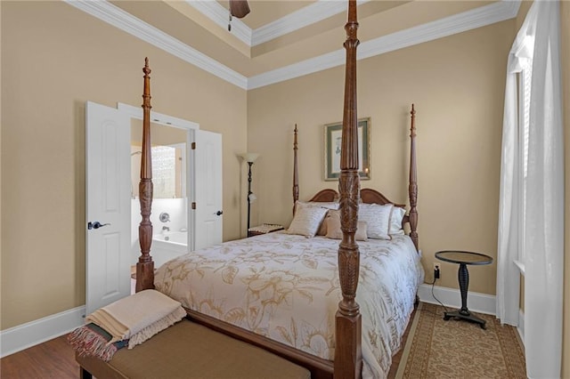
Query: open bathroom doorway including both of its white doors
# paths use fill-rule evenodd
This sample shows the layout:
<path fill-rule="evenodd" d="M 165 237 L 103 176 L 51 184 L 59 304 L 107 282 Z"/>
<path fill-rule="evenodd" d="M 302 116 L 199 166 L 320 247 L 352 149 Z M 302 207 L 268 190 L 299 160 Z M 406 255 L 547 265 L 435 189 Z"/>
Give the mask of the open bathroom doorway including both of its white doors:
<path fill-rule="evenodd" d="M 154 192 L 162 197 L 153 200 L 154 234 L 157 238 L 162 234 L 169 242 L 167 247 L 176 249 L 169 252 L 174 256 L 222 242 L 221 134 L 200 131 L 196 123 L 153 111 L 151 120 L 161 129 L 152 131 L 153 148 L 164 147 L 165 159 L 174 161 L 167 169 L 170 173 L 164 173 L 170 180 L 159 183 L 159 173 L 153 179 Z M 137 198 L 140 170 L 131 170 L 131 165 L 138 160 L 140 167 L 142 141 L 141 135 L 131 135 L 131 131 L 141 133 L 142 109 L 121 103 L 113 109 L 87 101 L 85 129 L 86 222 L 99 225 L 85 231 L 88 314 L 131 293 L 129 279 L 132 284 L 131 266 L 140 255 L 141 222 Z M 161 141 L 163 131 L 179 137 L 165 136 Z M 194 149 L 196 146 L 200 148 Z M 155 267 L 170 259 L 159 254 L 159 243 L 151 244 Z"/>

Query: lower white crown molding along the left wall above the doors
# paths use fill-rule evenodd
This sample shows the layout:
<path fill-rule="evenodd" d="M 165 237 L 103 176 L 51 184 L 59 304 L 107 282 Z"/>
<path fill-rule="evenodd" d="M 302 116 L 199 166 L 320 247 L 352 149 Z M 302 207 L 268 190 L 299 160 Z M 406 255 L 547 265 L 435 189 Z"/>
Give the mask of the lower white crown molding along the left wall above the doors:
<path fill-rule="evenodd" d="M 86 12 L 99 20 L 105 21 L 115 28 L 119 28 L 126 33 L 142 39 L 142 41 L 152 44 L 175 57 L 180 58 L 193 66 L 209 72 L 216 77 L 224 79 L 226 82 L 247 89 L 248 78 L 240 73 L 224 66 L 217 60 L 213 60 L 208 55 L 199 52 L 187 44 L 183 44 L 173 36 L 167 35 L 159 28 L 137 19 L 128 12 L 123 11 L 106 0 L 64 0 L 67 4 Z"/>

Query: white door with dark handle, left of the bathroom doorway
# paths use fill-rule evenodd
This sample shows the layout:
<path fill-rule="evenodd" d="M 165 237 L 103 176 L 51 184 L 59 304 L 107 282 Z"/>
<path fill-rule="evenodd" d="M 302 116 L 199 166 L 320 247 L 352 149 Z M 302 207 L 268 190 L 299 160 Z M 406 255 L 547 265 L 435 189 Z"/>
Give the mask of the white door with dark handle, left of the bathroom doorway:
<path fill-rule="evenodd" d="M 130 134 L 124 112 L 87 101 L 86 314 L 131 292 Z"/>

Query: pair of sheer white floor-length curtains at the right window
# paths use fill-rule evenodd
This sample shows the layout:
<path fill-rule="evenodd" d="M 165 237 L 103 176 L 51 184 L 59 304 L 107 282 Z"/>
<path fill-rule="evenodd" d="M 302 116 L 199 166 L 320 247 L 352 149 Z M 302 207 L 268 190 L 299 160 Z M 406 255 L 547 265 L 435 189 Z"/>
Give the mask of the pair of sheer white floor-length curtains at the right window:
<path fill-rule="evenodd" d="M 513 262 L 524 245 L 526 374 L 540 378 L 560 377 L 562 357 L 564 133 L 559 35 L 558 1 L 535 1 L 509 54 L 503 120 L 497 317 L 517 324 L 518 272 Z M 531 52 L 526 211 L 521 229 L 516 73 Z"/>

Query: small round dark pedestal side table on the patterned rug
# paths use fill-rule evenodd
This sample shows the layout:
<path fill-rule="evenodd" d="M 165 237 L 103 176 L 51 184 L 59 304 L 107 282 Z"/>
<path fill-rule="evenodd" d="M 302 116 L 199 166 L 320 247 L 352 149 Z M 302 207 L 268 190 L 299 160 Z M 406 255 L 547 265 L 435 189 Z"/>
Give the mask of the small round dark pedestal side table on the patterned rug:
<path fill-rule="evenodd" d="M 469 286 L 469 271 L 467 270 L 468 264 L 473 265 L 483 265 L 490 264 L 493 262 L 493 258 L 489 255 L 464 252 L 458 250 L 445 250 L 436 253 L 436 258 L 444 262 L 459 263 L 460 268 L 457 273 L 457 278 L 460 282 L 460 292 L 461 292 L 461 309 L 454 310 L 452 312 L 444 313 L 444 320 L 453 318 L 466 319 L 471 322 L 479 324 L 483 329 L 485 329 L 486 321 L 484 319 L 479 319 L 474 314 L 472 314 L 467 308 L 467 294 Z"/>

